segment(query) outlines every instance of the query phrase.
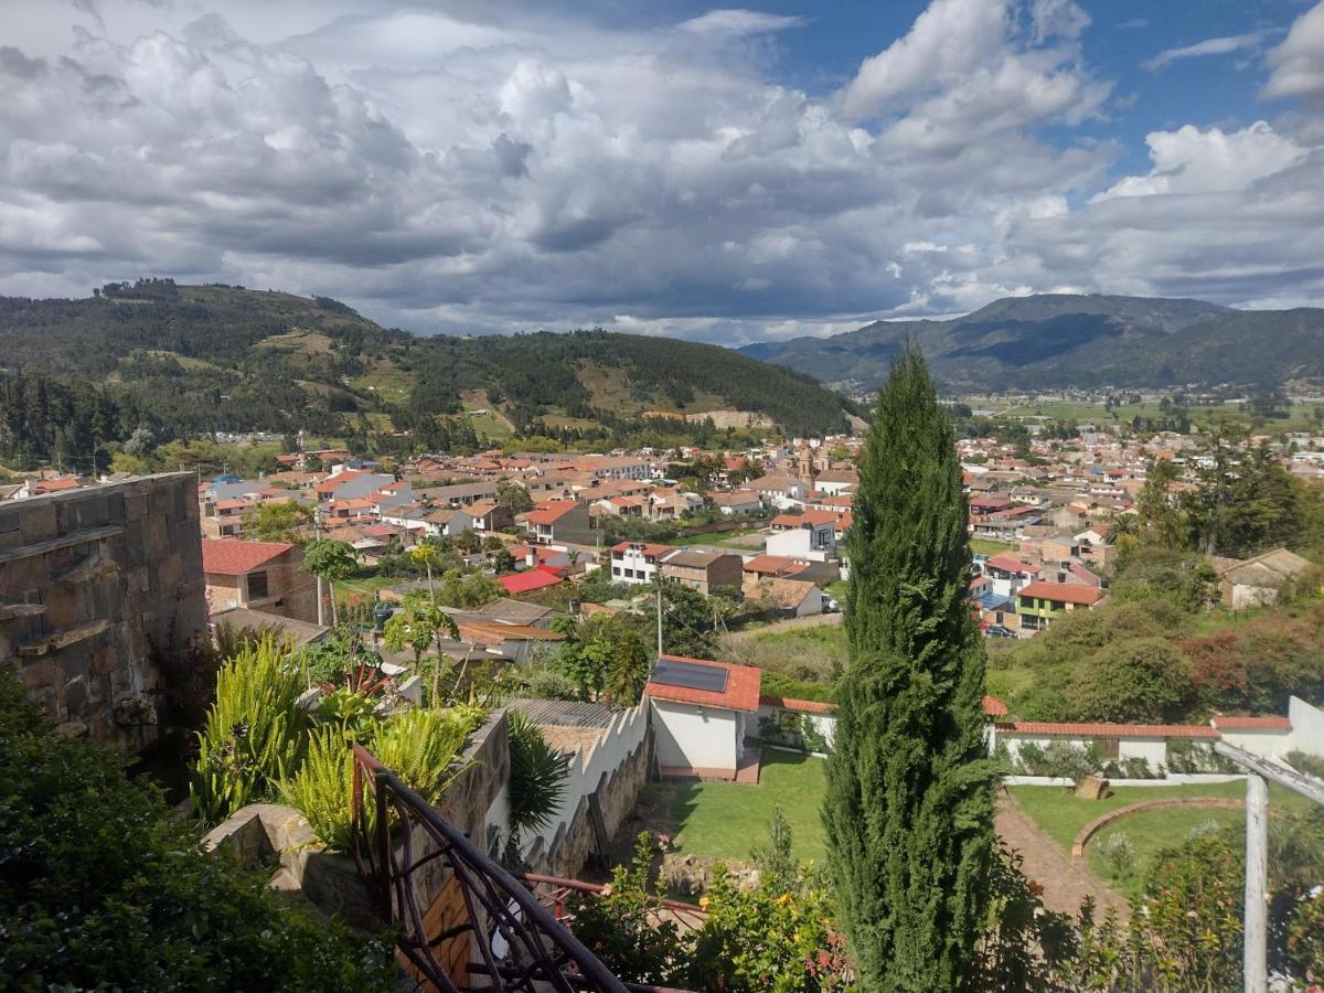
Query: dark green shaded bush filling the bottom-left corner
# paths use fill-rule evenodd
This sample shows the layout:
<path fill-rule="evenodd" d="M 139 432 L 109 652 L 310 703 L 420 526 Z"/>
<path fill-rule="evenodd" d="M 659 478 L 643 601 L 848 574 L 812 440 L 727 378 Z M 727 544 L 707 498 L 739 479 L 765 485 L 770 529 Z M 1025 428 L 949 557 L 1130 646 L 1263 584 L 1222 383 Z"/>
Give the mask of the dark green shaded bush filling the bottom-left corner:
<path fill-rule="evenodd" d="M 56 739 L 0 673 L 0 976 L 11 989 L 381 990 L 388 945 L 207 855 L 160 793 Z"/>

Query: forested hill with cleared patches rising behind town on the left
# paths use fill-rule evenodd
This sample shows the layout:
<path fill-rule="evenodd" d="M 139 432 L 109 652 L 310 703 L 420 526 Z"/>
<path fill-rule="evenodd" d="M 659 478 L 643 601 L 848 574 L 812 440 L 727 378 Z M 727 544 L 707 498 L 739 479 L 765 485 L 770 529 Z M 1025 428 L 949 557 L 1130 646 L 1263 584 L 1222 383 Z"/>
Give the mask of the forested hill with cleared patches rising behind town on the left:
<path fill-rule="evenodd" d="M 605 331 L 421 338 L 328 298 L 171 281 L 0 298 L 0 461 L 158 437 L 410 430 L 448 448 L 629 425 L 846 426 L 813 379 L 716 346 Z"/>

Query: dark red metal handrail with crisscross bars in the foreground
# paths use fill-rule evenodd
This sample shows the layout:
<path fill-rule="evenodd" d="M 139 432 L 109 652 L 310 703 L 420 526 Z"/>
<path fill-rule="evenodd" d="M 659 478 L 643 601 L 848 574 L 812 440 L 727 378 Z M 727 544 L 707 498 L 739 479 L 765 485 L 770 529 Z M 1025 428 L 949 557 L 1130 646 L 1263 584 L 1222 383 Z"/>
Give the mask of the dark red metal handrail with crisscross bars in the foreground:
<path fill-rule="evenodd" d="M 365 775 L 367 773 L 367 775 Z M 376 822 L 369 824 L 364 789 L 372 780 Z M 392 841 L 395 813 L 404 830 L 399 850 Z M 400 925 L 396 944 L 416 969 L 446 993 L 474 989 L 610 990 L 626 986 L 581 941 L 565 929 L 506 869 L 448 824 L 421 796 L 406 786 L 361 745 L 354 745 L 354 859 L 373 891 L 385 920 Z M 414 829 L 429 851 L 416 851 Z M 440 935 L 428 935 L 425 907 L 414 891 L 414 873 L 441 861 L 453 873 L 465 902 L 467 922 Z M 466 968 L 483 976 L 482 986 L 457 985 L 437 957 L 438 948 L 470 936 L 481 963 L 466 956 Z M 499 939 L 499 943 L 495 941 Z"/>

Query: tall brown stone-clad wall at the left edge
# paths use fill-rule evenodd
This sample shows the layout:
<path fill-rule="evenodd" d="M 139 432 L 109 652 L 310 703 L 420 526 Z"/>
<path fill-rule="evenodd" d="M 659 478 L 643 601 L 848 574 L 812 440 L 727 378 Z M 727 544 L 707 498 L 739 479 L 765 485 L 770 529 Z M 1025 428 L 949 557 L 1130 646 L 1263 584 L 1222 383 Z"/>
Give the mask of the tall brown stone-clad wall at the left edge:
<path fill-rule="evenodd" d="M 0 504 L 0 663 L 68 733 L 155 740 L 152 650 L 205 629 L 203 589 L 189 473 Z"/>

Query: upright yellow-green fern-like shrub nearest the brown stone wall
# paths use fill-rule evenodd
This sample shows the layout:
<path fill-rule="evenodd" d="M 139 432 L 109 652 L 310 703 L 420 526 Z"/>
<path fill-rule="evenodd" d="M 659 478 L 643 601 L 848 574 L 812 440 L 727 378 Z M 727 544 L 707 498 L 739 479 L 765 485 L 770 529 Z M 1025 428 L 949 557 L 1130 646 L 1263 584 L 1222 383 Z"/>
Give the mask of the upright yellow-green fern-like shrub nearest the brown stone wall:
<path fill-rule="evenodd" d="M 199 817 L 220 824 L 270 797 L 298 769 L 308 722 L 298 707 L 303 688 L 298 667 L 270 636 L 221 667 L 189 784 Z"/>

